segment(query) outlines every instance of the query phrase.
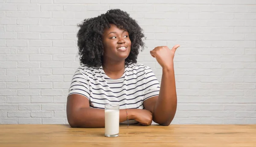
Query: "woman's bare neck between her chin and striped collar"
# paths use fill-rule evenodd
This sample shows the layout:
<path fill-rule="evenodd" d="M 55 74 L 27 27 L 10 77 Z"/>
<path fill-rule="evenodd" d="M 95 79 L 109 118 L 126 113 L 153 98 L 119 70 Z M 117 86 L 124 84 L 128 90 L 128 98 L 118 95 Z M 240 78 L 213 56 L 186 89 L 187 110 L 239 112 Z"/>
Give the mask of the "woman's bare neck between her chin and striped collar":
<path fill-rule="evenodd" d="M 120 78 L 125 71 L 125 61 L 120 62 L 103 62 L 102 68 L 109 78 L 117 79 Z"/>

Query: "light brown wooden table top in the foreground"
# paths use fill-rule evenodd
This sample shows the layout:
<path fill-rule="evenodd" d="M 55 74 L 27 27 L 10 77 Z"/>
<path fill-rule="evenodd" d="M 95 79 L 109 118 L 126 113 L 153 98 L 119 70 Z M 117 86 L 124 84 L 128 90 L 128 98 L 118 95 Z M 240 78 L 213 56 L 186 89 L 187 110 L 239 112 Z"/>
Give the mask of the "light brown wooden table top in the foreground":
<path fill-rule="evenodd" d="M 256 125 L 121 125 L 119 137 L 104 128 L 69 125 L 0 125 L 0 147 L 256 147 Z"/>

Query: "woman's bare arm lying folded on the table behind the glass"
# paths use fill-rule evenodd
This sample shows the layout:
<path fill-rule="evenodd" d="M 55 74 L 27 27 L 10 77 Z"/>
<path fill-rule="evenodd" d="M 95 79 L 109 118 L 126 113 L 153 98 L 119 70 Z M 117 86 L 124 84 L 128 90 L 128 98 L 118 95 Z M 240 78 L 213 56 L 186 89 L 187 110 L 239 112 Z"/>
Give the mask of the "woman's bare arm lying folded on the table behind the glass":
<path fill-rule="evenodd" d="M 128 119 L 150 125 L 152 114 L 148 110 L 128 109 Z M 90 108 L 88 98 L 72 94 L 67 98 L 67 120 L 71 127 L 105 127 L 105 110 Z M 119 122 L 126 120 L 126 110 L 120 110 Z"/>

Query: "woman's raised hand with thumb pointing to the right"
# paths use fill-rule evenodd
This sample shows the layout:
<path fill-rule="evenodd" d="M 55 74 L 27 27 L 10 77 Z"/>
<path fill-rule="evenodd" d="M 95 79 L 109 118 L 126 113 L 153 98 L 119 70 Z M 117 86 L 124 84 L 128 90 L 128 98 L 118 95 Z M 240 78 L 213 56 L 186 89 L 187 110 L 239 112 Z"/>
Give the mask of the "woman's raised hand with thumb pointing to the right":
<path fill-rule="evenodd" d="M 178 47 L 180 45 L 175 45 L 172 49 L 169 49 L 168 46 L 157 46 L 150 51 L 150 54 L 156 58 L 162 68 L 171 68 L 173 66 L 175 51 Z"/>

